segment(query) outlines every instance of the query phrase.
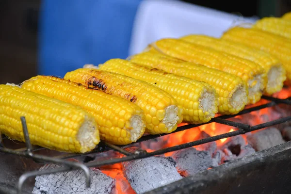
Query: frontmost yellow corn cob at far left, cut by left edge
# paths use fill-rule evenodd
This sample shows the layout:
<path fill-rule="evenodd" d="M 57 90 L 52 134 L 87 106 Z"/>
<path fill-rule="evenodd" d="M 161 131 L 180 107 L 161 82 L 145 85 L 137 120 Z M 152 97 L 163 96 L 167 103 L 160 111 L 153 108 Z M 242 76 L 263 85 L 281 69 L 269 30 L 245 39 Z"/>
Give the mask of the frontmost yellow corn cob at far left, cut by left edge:
<path fill-rule="evenodd" d="M 84 153 L 99 143 L 94 118 L 80 107 L 57 99 L 0 85 L 0 131 L 24 142 L 20 117 L 25 116 L 33 145 Z"/>

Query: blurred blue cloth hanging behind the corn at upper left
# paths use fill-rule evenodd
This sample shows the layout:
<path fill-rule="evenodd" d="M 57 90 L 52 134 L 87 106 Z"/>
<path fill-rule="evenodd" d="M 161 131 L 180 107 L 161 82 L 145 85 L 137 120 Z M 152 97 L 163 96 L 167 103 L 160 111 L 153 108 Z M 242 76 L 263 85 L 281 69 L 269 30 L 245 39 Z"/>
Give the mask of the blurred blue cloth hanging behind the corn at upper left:
<path fill-rule="evenodd" d="M 44 0 L 38 74 L 63 77 L 84 64 L 128 56 L 142 0 Z"/>

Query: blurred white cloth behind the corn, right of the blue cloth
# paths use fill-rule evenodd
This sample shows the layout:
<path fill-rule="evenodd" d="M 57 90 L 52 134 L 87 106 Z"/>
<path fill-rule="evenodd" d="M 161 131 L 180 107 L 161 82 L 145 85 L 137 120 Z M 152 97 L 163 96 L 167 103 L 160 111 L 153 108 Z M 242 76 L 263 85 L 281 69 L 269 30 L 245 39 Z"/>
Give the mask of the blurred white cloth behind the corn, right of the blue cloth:
<path fill-rule="evenodd" d="M 191 33 L 220 37 L 229 27 L 253 23 L 256 19 L 178 0 L 144 0 L 135 16 L 129 55 L 143 51 L 161 38 L 178 38 Z"/>

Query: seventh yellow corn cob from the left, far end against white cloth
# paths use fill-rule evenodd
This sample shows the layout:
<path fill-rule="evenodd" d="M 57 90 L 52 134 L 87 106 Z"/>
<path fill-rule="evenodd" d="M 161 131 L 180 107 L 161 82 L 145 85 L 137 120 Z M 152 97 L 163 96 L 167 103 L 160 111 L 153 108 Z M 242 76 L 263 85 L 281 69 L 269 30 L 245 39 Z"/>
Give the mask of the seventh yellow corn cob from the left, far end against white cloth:
<path fill-rule="evenodd" d="M 279 59 L 267 52 L 229 40 L 213 38 L 206 35 L 193 34 L 184 36 L 181 39 L 219 51 L 224 51 L 228 54 L 248 59 L 259 64 L 267 73 L 267 86 L 264 91 L 267 94 L 279 92 L 283 87 L 283 82 L 286 80 L 286 71 Z M 251 87 L 254 87 L 256 84 L 257 81 L 254 81 Z"/>

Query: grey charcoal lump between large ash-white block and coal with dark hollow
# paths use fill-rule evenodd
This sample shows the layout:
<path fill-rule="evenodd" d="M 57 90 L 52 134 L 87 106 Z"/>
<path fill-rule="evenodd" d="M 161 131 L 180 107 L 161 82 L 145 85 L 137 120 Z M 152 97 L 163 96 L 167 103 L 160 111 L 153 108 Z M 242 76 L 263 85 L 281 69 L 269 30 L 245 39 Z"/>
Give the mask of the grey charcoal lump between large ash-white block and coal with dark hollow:
<path fill-rule="evenodd" d="M 178 150 L 172 157 L 177 162 L 178 172 L 184 177 L 218 166 L 209 151 L 198 151 L 194 147 Z"/>

